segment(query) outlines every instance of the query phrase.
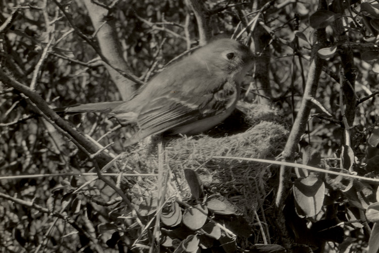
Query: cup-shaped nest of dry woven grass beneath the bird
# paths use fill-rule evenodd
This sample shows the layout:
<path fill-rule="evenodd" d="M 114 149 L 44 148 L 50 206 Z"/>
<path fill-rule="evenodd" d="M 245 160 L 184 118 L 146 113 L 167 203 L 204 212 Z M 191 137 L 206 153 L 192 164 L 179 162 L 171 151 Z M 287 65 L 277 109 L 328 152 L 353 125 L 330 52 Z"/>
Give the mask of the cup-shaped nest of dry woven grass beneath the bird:
<path fill-rule="evenodd" d="M 238 108 L 240 112 L 207 135 L 163 139 L 164 171 L 170 172 L 171 179 L 166 196 L 191 198 L 183 173 L 184 168 L 190 168 L 198 173 L 204 186 L 226 197 L 253 223 L 255 210 L 270 191 L 266 185 L 271 175 L 268 164 L 212 157 L 273 159 L 282 151 L 288 131 L 277 112 L 268 106 L 240 104 Z M 121 162 L 139 173 L 157 173 L 156 147 L 155 141 L 140 144 L 132 153 L 125 153 Z M 157 192 L 154 181 L 141 178 L 130 189 L 130 194 L 154 196 Z"/>

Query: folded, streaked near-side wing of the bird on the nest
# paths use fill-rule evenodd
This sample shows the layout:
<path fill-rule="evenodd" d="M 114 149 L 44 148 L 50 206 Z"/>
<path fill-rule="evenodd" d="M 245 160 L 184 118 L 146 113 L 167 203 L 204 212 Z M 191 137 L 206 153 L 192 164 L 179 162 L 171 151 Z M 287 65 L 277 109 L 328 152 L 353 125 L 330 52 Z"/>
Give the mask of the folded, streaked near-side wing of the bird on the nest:
<path fill-rule="evenodd" d="M 218 88 L 203 96 L 173 92 L 150 101 L 139 112 L 136 120 L 139 131 L 127 145 L 176 126 L 223 113 L 234 106 L 239 95 L 235 83 L 225 81 Z"/>

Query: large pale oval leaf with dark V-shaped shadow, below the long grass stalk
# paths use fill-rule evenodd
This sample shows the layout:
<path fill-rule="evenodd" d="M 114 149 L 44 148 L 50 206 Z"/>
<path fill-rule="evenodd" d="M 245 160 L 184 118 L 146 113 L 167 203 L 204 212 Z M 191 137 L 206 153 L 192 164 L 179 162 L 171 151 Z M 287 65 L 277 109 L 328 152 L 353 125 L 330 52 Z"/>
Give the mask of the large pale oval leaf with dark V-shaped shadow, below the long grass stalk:
<path fill-rule="evenodd" d="M 305 216 L 315 216 L 320 212 L 324 200 L 325 185 L 316 175 L 298 178 L 293 187 L 296 203 Z"/>

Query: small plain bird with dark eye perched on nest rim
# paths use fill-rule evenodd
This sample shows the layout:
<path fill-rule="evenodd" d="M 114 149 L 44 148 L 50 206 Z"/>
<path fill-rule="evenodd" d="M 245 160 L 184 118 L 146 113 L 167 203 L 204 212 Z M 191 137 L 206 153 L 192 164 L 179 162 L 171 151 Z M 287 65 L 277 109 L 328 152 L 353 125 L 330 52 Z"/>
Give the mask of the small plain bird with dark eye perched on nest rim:
<path fill-rule="evenodd" d="M 250 49 L 217 39 L 154 76 L 129 101 L 66 107 L 67 113 L 108 112 L 138 131 L 125 146 L 160 133 L 194 135 L 207 131 L 234 110 L 240 84 L 252 68 Z"/>

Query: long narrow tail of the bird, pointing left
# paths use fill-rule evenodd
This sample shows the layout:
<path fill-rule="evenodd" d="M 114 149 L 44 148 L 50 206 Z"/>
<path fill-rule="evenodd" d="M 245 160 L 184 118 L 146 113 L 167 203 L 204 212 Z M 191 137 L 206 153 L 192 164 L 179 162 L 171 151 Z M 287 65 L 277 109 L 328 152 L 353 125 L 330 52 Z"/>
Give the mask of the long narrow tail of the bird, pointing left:
<path fill-rule="evenodd" d="M 83 112 L 110 112 L 117 106 L 125 103 L 125 101 L 114 101 L 114 102 L 100 102 L 92 104 L 76 104 L 65 107 L 55 108 L 54 111 L 61 113 L 83 113 Z"/>

